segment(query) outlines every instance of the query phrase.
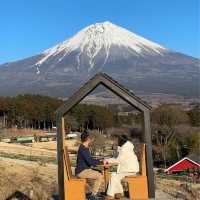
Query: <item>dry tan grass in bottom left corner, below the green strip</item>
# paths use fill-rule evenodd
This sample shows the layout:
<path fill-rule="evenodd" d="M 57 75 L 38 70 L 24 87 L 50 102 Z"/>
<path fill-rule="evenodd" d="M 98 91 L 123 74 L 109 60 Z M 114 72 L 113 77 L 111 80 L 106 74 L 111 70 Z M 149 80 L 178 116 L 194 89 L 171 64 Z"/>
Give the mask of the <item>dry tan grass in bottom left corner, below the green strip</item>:
<path fill-rule="evenodd" d="M 0 199 L 20 191 L 32 200 L 47 200 L 57 192 L 57 166 L 35 162 L 0 160 Z"/>

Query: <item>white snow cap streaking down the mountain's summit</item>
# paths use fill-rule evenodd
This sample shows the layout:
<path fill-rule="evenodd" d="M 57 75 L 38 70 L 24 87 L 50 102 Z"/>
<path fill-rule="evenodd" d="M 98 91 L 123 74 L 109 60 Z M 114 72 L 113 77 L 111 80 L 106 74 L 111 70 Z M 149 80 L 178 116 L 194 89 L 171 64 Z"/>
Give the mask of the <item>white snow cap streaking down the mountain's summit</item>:
<path fill-rule="evenodd" d="M 37 66 L 47 61 L 52 56 L 62 54 L 59 62 L 71 52 L 80 51 L 79 56 L 85 53 L 90 58 L 90 67 L 94 66 L 94 58 L 100 50 L 105 51 L 105 62 L 110 54 L 111 46 L 126 47 L 135 55 L 162 55 L 167 51 L 164 47 L 138 36 L 125 28 L 112 24 L 109 21 L 92 24 L 70 39 L 44 51 L 44 57 L 36 63 Z M 79 57 L 77 57 L 79 63 Z M 79 64 L 78 64 L 79 65 Z M 77 66 L 78 68 L 79 66 Z"/>

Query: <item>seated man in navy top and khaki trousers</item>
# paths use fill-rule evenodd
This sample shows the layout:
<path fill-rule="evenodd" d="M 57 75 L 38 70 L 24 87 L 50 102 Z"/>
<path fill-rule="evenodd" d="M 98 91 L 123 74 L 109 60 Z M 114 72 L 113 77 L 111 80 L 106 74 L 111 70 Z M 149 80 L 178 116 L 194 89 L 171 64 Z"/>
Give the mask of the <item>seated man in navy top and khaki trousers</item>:
<path fill-rule="evenodd" d="M 99 191 L 99 188 L 101 184 L 103 183 L 103 176 L 98 171 L 92 170 L 91 167 L 96 166 L 98 164 L 102 164 L 103 162 L 98 159 L 93 159 L 91 157 L 90 151 L 89 151 L 89 145 L 92 142 L 92 140 L 89 137 L 88 132 L 83 132 L 81 134 L 81 145 L 78 149 L 78 155 L 77 155 L 77 166 L 75 169 L 75 174 L 79 178 L 85 178 L 85 179 L 93 179 L 94 185 L 92 188 L 92 194 L 89 196 L 89 200 L 95 200 L 97 192 Z M 78 188 L 77 188 L 78 190 Z"/>

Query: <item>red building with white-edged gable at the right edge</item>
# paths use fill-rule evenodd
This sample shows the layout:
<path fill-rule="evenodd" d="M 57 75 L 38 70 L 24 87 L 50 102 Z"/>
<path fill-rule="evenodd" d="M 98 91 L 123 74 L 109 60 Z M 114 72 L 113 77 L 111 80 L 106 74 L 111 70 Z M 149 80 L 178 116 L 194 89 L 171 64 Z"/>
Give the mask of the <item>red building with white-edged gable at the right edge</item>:
<path fill-rule="evenodd" d="M 200 168 L 200 164 L 197 162 L 185 157 L 178 161 L 177 163 L 173 164 L 171 167 L 165 170 L 166 173 L 172 174 L 176 172 L 181 172 L 187 169 L 198 169 Z"/>

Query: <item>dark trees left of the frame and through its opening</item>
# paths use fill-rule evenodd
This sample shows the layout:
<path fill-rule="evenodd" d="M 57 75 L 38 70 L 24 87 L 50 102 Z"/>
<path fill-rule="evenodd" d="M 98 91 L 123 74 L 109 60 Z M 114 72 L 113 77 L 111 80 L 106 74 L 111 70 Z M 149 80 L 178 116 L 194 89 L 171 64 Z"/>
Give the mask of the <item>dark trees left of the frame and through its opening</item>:
<path fill-rule="evenodd" d="M 5 128 L 44 129 L 56 126 L 56 109 L 64 102 L 41 95 L 0 97 L 0 117 Z M 79 104 L 65 116 L 71 130 L 99 129 L 130 124 L 132 116 L 120 117 L 108 106 Z"/>

